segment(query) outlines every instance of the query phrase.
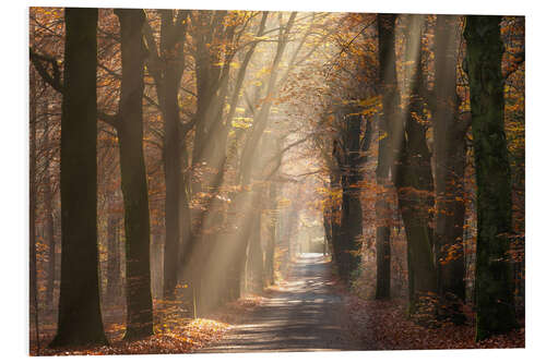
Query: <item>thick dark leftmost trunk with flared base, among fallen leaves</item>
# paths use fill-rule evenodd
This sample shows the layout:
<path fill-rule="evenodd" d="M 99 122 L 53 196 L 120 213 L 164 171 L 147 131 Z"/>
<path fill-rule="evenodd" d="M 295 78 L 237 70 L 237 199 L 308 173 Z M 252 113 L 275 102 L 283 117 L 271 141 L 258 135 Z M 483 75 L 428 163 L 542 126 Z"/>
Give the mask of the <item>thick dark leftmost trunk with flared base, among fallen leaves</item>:
<path fill-rule="evenodd" d="M 97 9 L 66 9 L 61 288 L 50 347 L 106 343 L 97 247 Z"/>

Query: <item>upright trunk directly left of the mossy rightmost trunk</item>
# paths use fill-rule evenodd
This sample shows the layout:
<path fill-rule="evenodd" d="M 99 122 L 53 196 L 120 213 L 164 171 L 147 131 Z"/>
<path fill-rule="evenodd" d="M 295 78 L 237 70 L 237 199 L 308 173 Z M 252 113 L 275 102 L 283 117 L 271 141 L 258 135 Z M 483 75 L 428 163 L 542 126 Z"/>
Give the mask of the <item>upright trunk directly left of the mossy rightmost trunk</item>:
<path fill-rule="evenodd" d="M 466 126 L 458 120 L 458 16 L 438 15 L 435 31 L 435 88 L 430 106 L 434 121 L 436 181 L 435 250 L 440 316 L 464 320 L 464 199 L 463 177 Z"/>

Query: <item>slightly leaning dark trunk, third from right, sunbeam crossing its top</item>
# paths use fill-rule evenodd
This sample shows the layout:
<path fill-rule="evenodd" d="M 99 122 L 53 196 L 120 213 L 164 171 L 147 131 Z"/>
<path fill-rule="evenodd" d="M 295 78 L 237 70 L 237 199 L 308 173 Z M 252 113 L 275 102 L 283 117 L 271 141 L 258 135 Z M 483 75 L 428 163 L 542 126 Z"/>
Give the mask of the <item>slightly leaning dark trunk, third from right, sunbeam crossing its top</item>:
<path fill-rule="evenodd" d="M 411 16 L 410 33 L 420 32 L 423 23 L 419 15 Z M 415 61 L 415 69 L 410 72 L 410 105 L 399 144 L 400 152 L 396 153 L 394 183 L 407 238 L 408 312 L 429 319 L 435 314 L 428 311 L 428 299 L 430 293 L 437 292 L 437 283 L 430 216 L 434 209 L 432 171 L 426 137 L 427 126 L 419 121 L 419 118 L 425 118 L 422 55 L 420 37 L 410 37 L 406 60 Z"/>

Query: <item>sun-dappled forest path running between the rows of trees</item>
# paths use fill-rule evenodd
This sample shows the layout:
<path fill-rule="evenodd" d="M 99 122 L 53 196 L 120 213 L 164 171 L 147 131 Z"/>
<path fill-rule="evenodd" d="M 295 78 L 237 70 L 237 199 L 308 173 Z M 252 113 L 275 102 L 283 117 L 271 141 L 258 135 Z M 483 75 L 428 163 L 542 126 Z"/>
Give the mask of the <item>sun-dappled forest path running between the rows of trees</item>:
<path fill-rule="evenodd" d="M 371 340 L 349 336 L 345 298 L 335 291 L 322 254 L 301 254 L 276 288 L 248 316 L 248 324 L 236 325 L 197 353 L 373 349 Z"/>

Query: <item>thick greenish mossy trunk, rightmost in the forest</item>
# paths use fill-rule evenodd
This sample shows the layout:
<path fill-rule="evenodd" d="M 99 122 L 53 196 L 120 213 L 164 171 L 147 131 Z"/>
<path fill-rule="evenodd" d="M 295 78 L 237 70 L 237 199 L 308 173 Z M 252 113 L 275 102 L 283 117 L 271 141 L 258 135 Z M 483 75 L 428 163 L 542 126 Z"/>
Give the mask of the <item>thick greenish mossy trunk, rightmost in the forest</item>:
<path fill-rule="evenodd" d="M 500 16 L 466 16 L 464 29 L 477 181 L 476 340 L 517 325 L 507 262 L 512 201 L 500 21 Z"/>

